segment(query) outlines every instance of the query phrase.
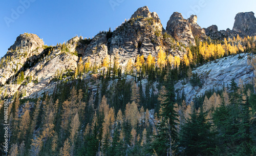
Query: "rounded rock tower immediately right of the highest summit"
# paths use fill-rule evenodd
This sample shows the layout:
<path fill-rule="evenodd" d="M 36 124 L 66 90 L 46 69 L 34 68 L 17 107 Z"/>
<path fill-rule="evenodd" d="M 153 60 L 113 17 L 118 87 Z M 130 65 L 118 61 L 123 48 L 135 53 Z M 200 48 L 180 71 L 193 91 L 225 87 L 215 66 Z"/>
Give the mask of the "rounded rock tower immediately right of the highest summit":
<path fill-rule="evenodd" d="M 179 12 L 174 12 L 173 15 L 170 16 L 167 22 L 166 32 L 185 45 L 188 45 L 189 42 L 194 45 L 196 44 L 189 21 L 184 19 Z"/>

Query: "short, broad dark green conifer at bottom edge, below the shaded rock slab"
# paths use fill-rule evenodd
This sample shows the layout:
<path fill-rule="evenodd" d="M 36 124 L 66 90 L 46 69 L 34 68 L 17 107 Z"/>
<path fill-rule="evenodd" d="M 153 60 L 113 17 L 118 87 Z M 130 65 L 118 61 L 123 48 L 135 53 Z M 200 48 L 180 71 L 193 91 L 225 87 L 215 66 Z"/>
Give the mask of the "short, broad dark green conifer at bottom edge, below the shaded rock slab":
<path fill-rule="evenodd" d="M 181 155 L 211 155 L 214 150 L 215 132 L 211 131 L 211 123 L 206 120 L 207 113 L 199 108 L 190 115 L 190 119 L 181 127 Z"/>

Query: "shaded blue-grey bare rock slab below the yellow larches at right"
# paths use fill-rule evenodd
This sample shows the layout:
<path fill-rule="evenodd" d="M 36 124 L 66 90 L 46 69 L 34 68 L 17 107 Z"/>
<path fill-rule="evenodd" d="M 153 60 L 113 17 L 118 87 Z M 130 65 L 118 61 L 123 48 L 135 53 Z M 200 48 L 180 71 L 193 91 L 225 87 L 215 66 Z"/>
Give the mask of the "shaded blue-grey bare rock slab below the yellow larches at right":
<path fill-rule="evenodd" d="M 202 87 L 192 86 L 190 82 L 186 83 L 181 80 L 175 84 L 175 90 L 179 90 L 179 95 L 184 92 L 186 102 L 190 103 L 195 97 L 202 96 L 207 90 L 227 87 L 231 79 L 235 79 L 238 84 L 240 84 L 240 79 L 244 84 L 250 83 L 253 71 L 251 66 L 247 64 L 247 55 L 229 56 L 199 66 L 193 73 L 198 74 Z M 242 58 L 239 58 L 239 56 Z"/>

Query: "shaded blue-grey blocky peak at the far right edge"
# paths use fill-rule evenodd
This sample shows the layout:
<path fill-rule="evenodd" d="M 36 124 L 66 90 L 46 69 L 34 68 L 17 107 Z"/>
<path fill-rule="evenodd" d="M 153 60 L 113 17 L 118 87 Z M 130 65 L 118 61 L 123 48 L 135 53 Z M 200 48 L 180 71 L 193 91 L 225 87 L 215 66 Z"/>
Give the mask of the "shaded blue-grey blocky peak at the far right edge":
<path fill-rule="evenodd" d="M 253 12 L 240 12 L 234 18 L 233 31 L 242 35 L 256 35 L 256 18 Z"/>

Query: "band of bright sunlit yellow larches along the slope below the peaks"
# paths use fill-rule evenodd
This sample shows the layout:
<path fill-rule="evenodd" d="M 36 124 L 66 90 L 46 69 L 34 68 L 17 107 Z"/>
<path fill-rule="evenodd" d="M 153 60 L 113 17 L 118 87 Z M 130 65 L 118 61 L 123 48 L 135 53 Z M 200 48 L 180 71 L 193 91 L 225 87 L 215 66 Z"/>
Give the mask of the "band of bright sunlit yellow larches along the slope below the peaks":
<path fill-rule="evenodd" d="M 201 55 L 203 57 L 203 61 L 207 62 L 212 59 L 218 59 L 224 56 L 228 56 L 228 55 L 233 55 L 233 54 L 237 54 L 239 52 L 244 52 L 246 49 L 254 49 L 255 48 L 255 44 L 254 41 L 256 36 L 251 36 L 251 37 L 244 37 L 241 38 L 239 35 L 237 37 L 233 37 L 233 38 L 228 38 L 228 39 L 224 39 L 224 41 L 217 41 L 219 43 L 213 43 L 213 42 L 199 42 L 199 46 L 198 46 L 198 50 L 197 50 L 197 54 L 192 53 L 191 50 L 189 49 L 189 47 L 186 47 L 186 53 L 184 53 L 184 55 L 182 57 L 180 57 L 179 55 L 177 56 L 173 56 L 172 54 L 167 54 L 167 52 L 164 52 L 162 49 L 160 49 L 160 51 L 158 52 L 158 56 L 157 59 L 152 56 L 151 54 L 149 54 L 147 56 L 147 58 L 145 59 L 144 55 L 137 55 L 136 59 L 129 59 L 127 62 L 127 65 L 125 67 L 125 72 L 126 73 L 131 73 L 133 70 L 136 70 L 137 72 L 141 70 L 141 68 L 143 68 L 143 66 L 145 67 L 150 67 L 150 66 L 155 66 L 157 65 L 158 68 L 162 69 L 167 62 L 170 64 L 170 66 L 172 66 L 173 68 L 175 68 L 177 66 L 177 68 L 179 68 L 179 65 L 181 62 L 184 62 L 185 66 L 188 66 L 189 64 L 194 64 L 196 62 L 196 59 L 198 59 L 198 55 Z M 177 46 L 179 46 L 179 43 L 176 43 Z M 196 56 L 197 55 L 197 56 Z M 100 66 L 96 66 L 96 68 L 100 68 L 100 67 L 104 67 L 105 69 L 107 69 L 110 65 L 111 61 L 110 61 L 110 57 L 106 56 L 103 59 L 103 62 L 101 63 Z M 115 62 L 113 62 L 114 64 L 118 64 L 119 68 L 119 59 L 116 58 Z M 78 64 L 78 71 L 77 73 L 81 73 L 83 71 L 90 71 L 92 70 L 93 64 L 91 63 L 91 58 L 89 57 L 89 59 L 87 60 L 86 63 L 83 64 L 82 60 L 79 60 L 79 64 Z"/>

